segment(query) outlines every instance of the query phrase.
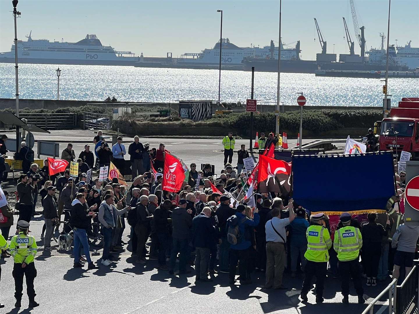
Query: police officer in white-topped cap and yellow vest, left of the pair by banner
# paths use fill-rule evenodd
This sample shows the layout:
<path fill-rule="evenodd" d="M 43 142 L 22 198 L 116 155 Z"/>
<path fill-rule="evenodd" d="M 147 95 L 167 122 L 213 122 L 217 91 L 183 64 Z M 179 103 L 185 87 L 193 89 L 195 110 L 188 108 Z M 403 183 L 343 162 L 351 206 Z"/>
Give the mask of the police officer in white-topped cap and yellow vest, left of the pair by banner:
<path fill-rule="evenodd" d="M 305 277 L 300 295 L 303 301 L 308 300 L 307 293 L 311 289 L 311 280 L 313 276 L 316 276 L 316 303 L 323 302 L 324 280 L 329 260 L 328 250 L 332 247 L 332 240 L 325 226 L 323 213 L 310 217 L 310 226 L 306 231 L 307 251 L 304 254 L 307 264 L 304 269 Z"/>

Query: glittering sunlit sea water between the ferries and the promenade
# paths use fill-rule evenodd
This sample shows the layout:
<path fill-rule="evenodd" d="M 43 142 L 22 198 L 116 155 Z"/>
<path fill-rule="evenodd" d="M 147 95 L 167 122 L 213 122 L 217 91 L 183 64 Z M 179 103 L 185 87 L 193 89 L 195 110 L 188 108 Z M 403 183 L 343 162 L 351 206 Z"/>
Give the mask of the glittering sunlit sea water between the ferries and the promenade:
<path fill-rule="evenodd" d="M 54 64 L 19 64 L 20 98 L 56 99 Z M 103 100 L 114 95 L 121 101 L 169 102 L 218 99 L 218 71 L 157 69 L 124 66 L 62 65 L 60 98 Z M 417 79 L 389 79 L 393 104 L 402 97 L 418 97 Z M 316 77 L 314 74 L 281 74 L 281 100 L 296 104 L 303 92 L 307 105 L 382 106 L 380 79 Z M 255 73 L 254 98 L 264 104 L 276 102 L 277 74 Z M 0 98 L 15 96 L 14 64 L 0 63 Z M 221 100 L 243 101 L 251 95 L 251 72 L 222 71 Z"/>

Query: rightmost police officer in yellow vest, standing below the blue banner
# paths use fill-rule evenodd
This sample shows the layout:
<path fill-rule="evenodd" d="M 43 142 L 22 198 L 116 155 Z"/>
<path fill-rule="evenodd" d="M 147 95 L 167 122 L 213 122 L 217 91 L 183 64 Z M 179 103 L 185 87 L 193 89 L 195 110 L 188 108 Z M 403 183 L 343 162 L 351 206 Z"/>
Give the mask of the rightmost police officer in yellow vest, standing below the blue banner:
<path fill-rule="evenodd" d="M 354 281 L 355 291 L 358 295 L 358 303 L 365 303 L 363 297 L 360 272 L 360 249 L 362 247 L 362 235 L 360 229 L 350 226 L 351 215 L 343 213 L 340 216 L 342 228 L 336 230 L 333 248 L 338 254 L 339 274 L 342 280 L 342 303 L 349 303 L 349 279 Z"/>

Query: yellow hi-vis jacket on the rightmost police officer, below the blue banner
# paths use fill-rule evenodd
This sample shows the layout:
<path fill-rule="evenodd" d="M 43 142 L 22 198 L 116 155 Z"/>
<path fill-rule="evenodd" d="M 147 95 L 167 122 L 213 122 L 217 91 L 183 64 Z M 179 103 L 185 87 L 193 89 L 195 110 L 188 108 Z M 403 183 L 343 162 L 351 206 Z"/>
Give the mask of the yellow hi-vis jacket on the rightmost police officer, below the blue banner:
<path fill-rule="evenodd" d="M 355 260 L 360 255 L 362 247 L 362 235 L 358 228 L 344 226 L 336 230 L 333 247 L 338 253 L 338 259 L 342 262 Z"/>

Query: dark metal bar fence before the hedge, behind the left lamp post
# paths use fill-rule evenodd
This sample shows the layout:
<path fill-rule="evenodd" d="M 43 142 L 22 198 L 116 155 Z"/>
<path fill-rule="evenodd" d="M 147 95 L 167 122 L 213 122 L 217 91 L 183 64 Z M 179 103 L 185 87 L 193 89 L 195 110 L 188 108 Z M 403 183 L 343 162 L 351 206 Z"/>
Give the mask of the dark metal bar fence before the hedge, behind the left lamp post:
<path fill-rule="evenodd" d="M 77 126 L 77 113 L 19 113 L 19 118 L 47 130 L 70 130 Z"/>

